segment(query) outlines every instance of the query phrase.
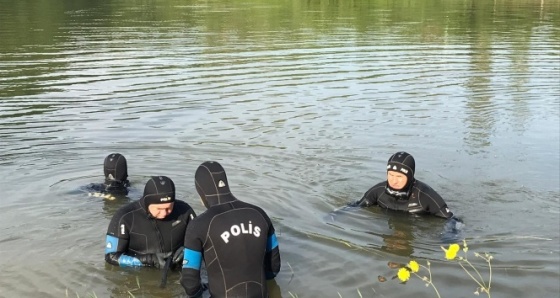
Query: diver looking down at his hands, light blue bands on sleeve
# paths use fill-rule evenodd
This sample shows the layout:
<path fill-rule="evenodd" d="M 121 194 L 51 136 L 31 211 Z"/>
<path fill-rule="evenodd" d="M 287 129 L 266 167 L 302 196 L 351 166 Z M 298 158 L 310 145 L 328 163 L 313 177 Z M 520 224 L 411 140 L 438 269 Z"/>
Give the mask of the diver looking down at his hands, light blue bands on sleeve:
<path fill-rule="evenodd" d="M 151 177 L 142 198 L 113 216 L 107 229 L 105 261 L 121 267 L 162 268 L 172 257 L 171 266 L 180 268 L 185 231 L 195 216 L 189 204 L 175 200 L 171 179 Z"/>

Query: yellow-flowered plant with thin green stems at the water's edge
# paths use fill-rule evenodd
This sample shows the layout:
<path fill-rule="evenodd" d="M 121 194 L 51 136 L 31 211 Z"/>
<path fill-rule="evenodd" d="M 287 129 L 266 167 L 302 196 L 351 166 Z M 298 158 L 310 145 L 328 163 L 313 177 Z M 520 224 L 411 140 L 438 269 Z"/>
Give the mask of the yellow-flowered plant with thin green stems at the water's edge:
<path fill-rule="evenodd" d="M 491 298 L 490 289 L 492 286 L 492 265 L 491 261 L 494 258 L 492 255 L 488 253 L 480 254 L 475 252 L 474 256 L 477 258 L 483 259 L 488 264 L 488 281 L 486 281 L 480 271 L 469 261 L 468 259 L 468 251 L 469 247 L 467 246 L 467 242 L 463 240 L 463 247 L 459 244 L 451 244 L 447 248 L 441 247 L 441 249 L 445 252 L 445 259 L 448 261 L 453 261 L 459 264 L 461 268 L 467 273 L 467 275 L 477 284 L 477 288 L 474 292 L 475 295 L 480 295 L 482 293 L 486 293 L 488 298 Z M 462 251 L 463 254 L 459 255 L 459 252 Z M 431 286 L 437 297 L 441 298 L 441 295 L 434 285 L 432 281 L 432 270 L 430 261 L 426 261 L 426 266 L 420 265 L 415 260 L 411 260 L 408 264 L 398 264 L 394 262 L 389 262 L 388 266 L 390 268 L 399 268 L 397 274 L 393 277 L 393 279 L 398 278 L 401 283 L 406 283 L 411 276 L 416 276 L 420 280 L 426 283 L 426 287 Z M 422 271 L 422 272 L 421 272 Z M 425 273 L 424 273 L 425 272 Z M 379 276 L 379 281 L 384 282 L 386 278 L 383 276 Z"/>

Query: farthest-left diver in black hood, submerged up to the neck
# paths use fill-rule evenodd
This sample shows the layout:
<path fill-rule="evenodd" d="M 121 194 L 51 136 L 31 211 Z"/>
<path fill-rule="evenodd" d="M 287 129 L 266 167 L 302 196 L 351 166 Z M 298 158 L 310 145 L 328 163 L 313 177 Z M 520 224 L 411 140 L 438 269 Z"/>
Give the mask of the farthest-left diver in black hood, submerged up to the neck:
<path fill-rule="evenodd" d="M 128 171 L 126 158 L 120 153 L 111 153 L 105 157 L 103 162 L 103 174 L 105 175 L 105 183 L 92 183 L 86 188 L 92 192 L 94 196 L 105 195 L 127 195 L 128 187 Z"/>

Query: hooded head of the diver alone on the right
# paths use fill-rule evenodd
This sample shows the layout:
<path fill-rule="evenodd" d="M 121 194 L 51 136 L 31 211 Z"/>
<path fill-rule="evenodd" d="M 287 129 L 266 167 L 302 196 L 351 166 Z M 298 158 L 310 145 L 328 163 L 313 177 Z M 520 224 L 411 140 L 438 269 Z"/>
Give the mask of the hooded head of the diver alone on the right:
<path fill-rule="evenodd" d="M 412 155 L 404 151 L 393 154 L 387 162 L 387 192 L 397 197 L 408 196 L 414 183 L 415 168 Z"/>

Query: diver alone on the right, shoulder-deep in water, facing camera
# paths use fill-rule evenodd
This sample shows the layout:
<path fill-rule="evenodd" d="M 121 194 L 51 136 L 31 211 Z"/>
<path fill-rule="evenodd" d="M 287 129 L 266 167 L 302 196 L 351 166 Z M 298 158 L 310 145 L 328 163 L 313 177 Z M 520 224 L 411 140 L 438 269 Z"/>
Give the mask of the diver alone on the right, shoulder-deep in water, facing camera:
<path fill-rule="evenodd" d="M 453 217 L 442 197 L 430 186 L 414 179 L 415 162 L 412 155 L 397 152 L 387 162 L 387 181 L 370 188 L 353 206 L 405 211 L 414 214 L 433 214 Z"/>

